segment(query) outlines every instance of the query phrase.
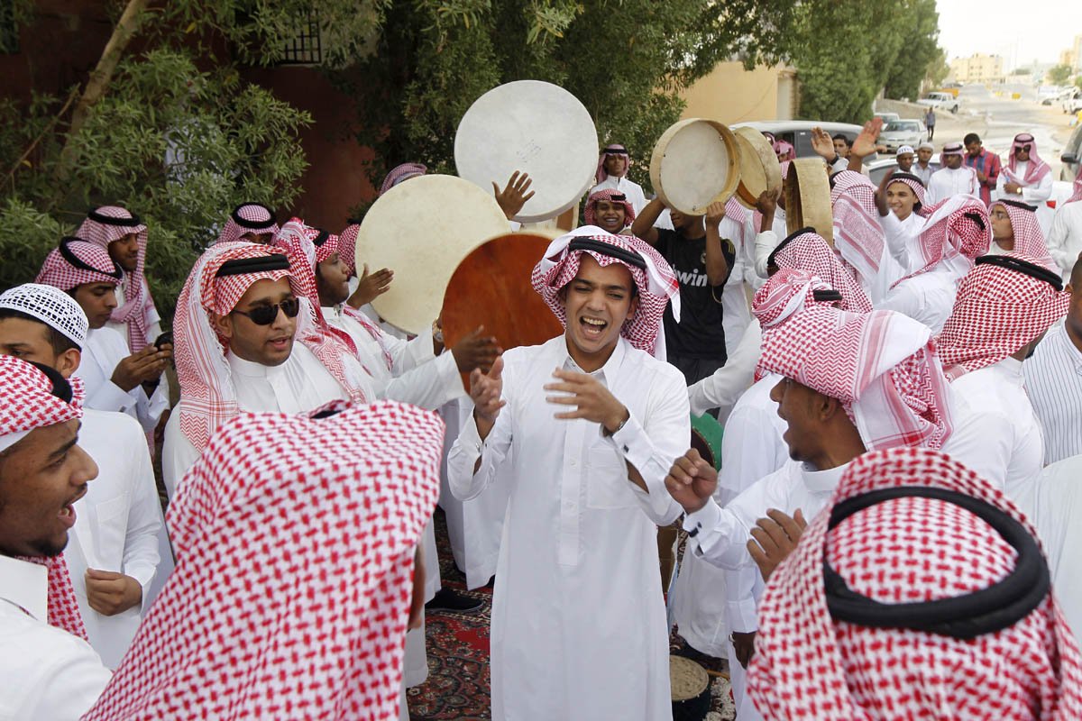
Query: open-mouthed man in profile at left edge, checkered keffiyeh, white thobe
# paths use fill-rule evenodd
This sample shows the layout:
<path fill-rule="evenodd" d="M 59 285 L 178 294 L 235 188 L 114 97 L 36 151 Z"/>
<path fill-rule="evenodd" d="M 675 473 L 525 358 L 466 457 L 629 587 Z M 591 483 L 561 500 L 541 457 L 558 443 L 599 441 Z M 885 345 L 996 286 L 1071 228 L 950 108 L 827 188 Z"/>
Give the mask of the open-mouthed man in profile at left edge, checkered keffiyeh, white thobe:
<path fill-rule="evenodd" d="M 0 357 L 0 718 L 77 721 L 109 682 L 85 641 L 63 550 L 97 475 L 81 412 L 48 366 Z M 51 625 L 49 620 L 52 620 Z"/>

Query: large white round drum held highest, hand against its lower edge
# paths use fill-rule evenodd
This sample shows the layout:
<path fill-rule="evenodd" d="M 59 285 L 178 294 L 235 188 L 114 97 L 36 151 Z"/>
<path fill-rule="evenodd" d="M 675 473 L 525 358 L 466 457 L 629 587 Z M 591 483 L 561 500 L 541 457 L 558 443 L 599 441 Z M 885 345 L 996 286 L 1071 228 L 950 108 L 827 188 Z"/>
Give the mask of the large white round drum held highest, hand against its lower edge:
<path fill-rule="evenodd" d="M 556 217 L 594 184 L 597 129 L 585 106 L 558 85 L 517 80 L 470 106 L 454 135 L 459 176 L 492 192 L 515 171 L 529 173 L 533 197 L 519 223 Z"/>

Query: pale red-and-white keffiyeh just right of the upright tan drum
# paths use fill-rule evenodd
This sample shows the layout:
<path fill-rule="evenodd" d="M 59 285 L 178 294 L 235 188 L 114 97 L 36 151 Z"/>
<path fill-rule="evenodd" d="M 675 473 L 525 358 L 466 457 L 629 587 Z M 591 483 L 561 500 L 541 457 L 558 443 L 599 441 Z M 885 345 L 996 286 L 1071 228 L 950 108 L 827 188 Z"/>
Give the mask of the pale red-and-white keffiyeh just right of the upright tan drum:
<path fill-rule="evenodd" d="M 853 268 L 860 285 L 872 288 L 886 249 L 875 208 L 875 186 L 862 173 L 842 171 L 833 177 L 830 204 L 834 213 L 834 250 Z"/>

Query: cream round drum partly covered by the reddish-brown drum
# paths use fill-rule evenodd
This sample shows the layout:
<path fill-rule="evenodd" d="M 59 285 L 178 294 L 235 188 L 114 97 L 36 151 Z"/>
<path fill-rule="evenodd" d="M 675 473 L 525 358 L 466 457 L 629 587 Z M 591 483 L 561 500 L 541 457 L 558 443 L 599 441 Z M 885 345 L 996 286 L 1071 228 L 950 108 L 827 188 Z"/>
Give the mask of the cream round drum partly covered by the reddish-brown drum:
<path fill-rule="evenodd" d="M 357 267 L 391 268 L 395 281 L 372 301 L 380 318 L 407 333 L 427 333 L 462 258 L 507 218 L 489 192 L 453 175 L 422 175 L 387 190 L 357 232 Z"/>

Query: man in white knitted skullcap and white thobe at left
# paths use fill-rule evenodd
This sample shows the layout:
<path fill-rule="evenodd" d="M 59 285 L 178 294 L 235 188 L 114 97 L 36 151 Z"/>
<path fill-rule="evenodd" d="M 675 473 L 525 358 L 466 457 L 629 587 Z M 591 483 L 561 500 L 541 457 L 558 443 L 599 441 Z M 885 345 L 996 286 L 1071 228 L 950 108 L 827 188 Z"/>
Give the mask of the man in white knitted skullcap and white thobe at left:
<path fill-rule="evenodd" d="M 27 283 L 0 294 L 0 355 L 42 363 L 70 378 L 78 369 L 87 317 L 70 296 Z M 151 598 L 168 539 L 143 430 L 122 413 L 83 411 L 79 443 L 98 478 L 75 504 L 72 543 L 65 560 L 87 637 L 116 668 L 131 645 Z"/>

